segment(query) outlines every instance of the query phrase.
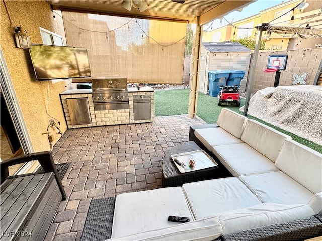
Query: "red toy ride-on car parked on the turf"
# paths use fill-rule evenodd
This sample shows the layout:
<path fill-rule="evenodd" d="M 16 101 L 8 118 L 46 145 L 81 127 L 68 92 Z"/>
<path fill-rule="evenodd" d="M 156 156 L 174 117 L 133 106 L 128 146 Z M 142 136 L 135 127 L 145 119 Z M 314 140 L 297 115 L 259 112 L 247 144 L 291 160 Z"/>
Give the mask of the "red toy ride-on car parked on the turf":
<path fill-rule="evenodd" d="M 240 106 L 240 95 L 239 88 L 235 86 L 220 86 L 220 91 L 218 93 L 218 106 L 221 106 L 223 102 L 227 102 L 227 105 L 235 103 L 236 106 Z"/>

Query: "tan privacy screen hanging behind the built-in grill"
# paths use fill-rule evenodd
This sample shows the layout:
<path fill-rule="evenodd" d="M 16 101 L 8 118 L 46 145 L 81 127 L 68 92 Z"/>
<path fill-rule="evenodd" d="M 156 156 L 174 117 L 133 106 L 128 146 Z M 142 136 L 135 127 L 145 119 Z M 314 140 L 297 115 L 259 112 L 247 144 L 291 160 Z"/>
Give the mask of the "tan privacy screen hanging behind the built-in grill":
<path fill-rule="evenodd" d="M 86 47 L 92 77 L 182 84 L 186 24 L 63 11 L 68 46 Z"/>

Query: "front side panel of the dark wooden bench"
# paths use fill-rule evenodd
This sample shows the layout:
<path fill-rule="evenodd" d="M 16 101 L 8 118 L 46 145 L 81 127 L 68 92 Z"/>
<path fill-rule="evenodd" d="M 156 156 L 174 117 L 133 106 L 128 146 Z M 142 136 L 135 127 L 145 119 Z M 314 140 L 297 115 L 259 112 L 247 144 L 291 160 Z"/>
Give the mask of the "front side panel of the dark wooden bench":
<path fill-rule="evenodd" d="M 32 235 L 29 236 L 28 240 L 40 240 L 44 237 L 44 235 L 41 235 L 41 231 L 45 231 L 45 234 L 47 232 L 47 229 L 50 226 L 50 223 L 52 222 L 52 217 L 49 217 L 48 215 L 55 206 L 55 211 L 58 207 L 56 205 L 57 199 L 58 202 L 61 201 L 61 193 L 59 191 L 58 185 L 56 181 L 53 179 L 50 186 L 48 187 L 45 195 L 42 197 L 41 200 L 39 200 L 38 205 L 35 205 L 35 210 L 33 210 L 33 218 L 30 220 L 27 225 L 25 226 L 23 231 L 26 231 L 28 233 L 31 233 Z M 48 217 L 49 217 L 49 224 L 48 224 Z M 44 230 L 43 230 L 44 229 Z"/>

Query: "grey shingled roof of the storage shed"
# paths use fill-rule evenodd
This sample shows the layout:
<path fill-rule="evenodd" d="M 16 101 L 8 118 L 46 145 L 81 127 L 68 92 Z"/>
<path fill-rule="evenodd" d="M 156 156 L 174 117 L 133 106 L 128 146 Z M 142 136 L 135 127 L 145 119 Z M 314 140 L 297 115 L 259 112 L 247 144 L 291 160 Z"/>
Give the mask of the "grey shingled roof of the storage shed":
<path fill-rule="evenodd" d="M 243 44 L 237 42 L 203 42 L 202 45 L 209 52 L 252 52 Z"/>

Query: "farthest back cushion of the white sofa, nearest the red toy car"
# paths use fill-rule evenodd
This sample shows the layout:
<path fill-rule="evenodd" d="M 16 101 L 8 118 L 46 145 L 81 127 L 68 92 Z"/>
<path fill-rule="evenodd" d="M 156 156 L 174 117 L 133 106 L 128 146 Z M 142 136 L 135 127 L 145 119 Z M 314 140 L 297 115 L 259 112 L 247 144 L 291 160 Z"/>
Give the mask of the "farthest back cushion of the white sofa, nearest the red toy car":
<path fill-rule="evenodd" d="M 243 133 L 247 117 L 227 108 L 222 108 L 218 116 L 217 125 L 233 136 L 240 138 Z"/>

